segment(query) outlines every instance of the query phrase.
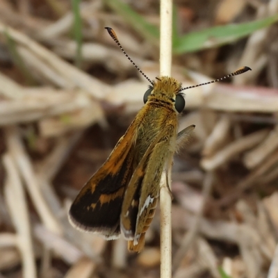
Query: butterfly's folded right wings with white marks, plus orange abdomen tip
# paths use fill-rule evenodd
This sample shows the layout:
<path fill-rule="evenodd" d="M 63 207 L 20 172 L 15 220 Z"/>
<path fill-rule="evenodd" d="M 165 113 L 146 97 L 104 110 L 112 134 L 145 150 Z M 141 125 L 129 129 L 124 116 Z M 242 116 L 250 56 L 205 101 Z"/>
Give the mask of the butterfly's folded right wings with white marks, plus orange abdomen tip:
<path fill-rule="evenodd" d="M 159 133 L 136 167 L 126 189 L 120 218 L 121 231 L 129 240 L 129 250 L 140 252 L 145 244 L 145 232 L 154 217 L 159 196 L 159 184 L 166 161 L 172 157 L 170 138 L 174 128 L 166 126 L 167 136 Z M 140 197 L 140 198 L 139 198 Z"/>

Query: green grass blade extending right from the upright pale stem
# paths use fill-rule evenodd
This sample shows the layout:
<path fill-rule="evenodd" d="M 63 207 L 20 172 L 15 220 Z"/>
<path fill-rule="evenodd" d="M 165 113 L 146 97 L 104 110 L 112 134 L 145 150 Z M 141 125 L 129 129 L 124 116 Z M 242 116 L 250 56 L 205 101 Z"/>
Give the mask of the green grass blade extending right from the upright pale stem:
<path fill-rule="evenodd" d="M 235 42 L 256 30 L 270 26 L 277 21 L 278 15 L 274 15 L 254 22 L 216 26 L 202 31 L 189 33 L 174 40 L 173 52 L 174 54 L 183 54 Z"/>

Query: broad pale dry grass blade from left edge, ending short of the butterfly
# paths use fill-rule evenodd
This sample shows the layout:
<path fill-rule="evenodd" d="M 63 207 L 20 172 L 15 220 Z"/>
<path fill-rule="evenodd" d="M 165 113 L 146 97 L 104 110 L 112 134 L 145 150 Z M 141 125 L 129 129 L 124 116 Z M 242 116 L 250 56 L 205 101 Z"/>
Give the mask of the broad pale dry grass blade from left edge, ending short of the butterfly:
<path fill-rule="evenodd" d="M 95 112 L 89 115 L 89 119 L 82 117 L 82 111 Z M 81 116 L 79 115 L 81 114 Z M 88 113 L 87 113 L 88 114 Z M 28 88 L 22 91 L 22 96 L 12 101 L 1 101 L 0 103 L 0 125 L 18 124 L 32 122 L 51 116 L 68 115 L 68 121 L 60 124 L 63 129 L 72 126 L 86 126 L 90 122 L 103 119 L 103 112 L 99 104 L 84 95 L 82 92 L 54 90 L 50 88 Z M 81 119 L 76 124 L 76 118 Z M 64 124 L 64 125 L 63 125 Z M 42 129 L 47 133 L 48 129 Z"/>

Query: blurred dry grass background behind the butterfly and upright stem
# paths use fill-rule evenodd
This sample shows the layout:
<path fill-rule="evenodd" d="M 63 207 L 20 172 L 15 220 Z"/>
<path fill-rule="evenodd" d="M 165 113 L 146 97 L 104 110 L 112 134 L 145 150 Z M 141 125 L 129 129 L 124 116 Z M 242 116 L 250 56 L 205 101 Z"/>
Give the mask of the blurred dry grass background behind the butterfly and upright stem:
<path fill-rule="evenodd" d="M 158 0 L 0 0 L 0 277 L 159 277 L 159 206 L 145 249 L 70 226 L 67 211 L 159 75 Z M 172 76 L 173 277 L 278 277 L 278 0 L 177 0 Z M 272 268 L 270 270 L 270 265 Z M 276 265 L 276 267 L 275 267 Z"/>

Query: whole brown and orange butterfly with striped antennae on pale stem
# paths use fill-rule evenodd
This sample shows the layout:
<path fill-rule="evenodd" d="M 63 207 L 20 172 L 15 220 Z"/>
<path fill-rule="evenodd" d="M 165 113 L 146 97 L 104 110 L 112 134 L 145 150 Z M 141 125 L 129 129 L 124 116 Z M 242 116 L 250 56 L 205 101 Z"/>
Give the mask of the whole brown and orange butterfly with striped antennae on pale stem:
<path fill-rule="evenodd" d="M 106 29 L 122 49 L 113 29 Z M 185 106 L 181 92 L 199 85 L 182 88 L 181 83 L 169 76 L 151 81 L 136 68 L 151 83 L 144 95 L 145 106 L 104 165 L 85 183 L 70 208 L 69 218 L 74 227 L 106 239 L 119 238 L 122 233 L 129 240 L 128 249 L 140 252 L 158 203 L 163 170 L 167 174 L 174 153 L 188 141 L 195 128 L 191 125 L 178 133 L 178 116 Z M 248 70 L 251 69 L 243 67 L 224 78 Z"/>

